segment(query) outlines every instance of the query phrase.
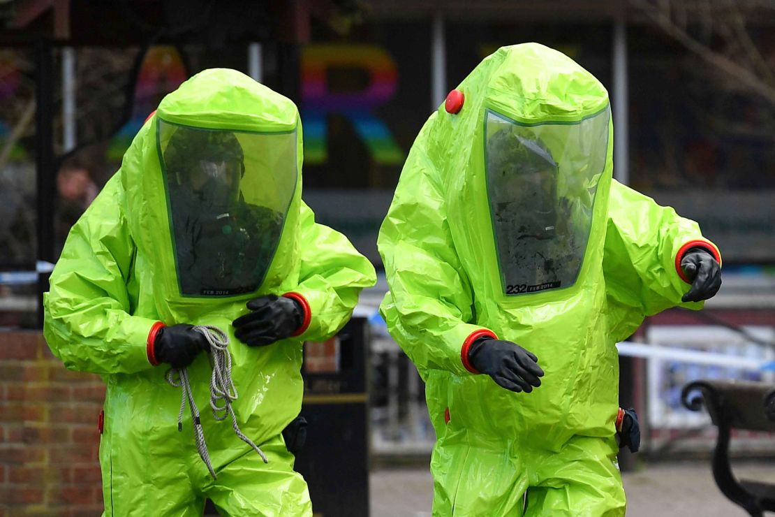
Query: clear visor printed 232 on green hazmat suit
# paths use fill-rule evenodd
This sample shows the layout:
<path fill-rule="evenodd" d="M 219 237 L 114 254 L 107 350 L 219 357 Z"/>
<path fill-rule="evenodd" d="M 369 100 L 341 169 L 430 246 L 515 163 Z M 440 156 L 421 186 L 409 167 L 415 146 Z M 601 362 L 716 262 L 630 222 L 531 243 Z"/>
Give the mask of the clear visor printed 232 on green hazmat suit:
<path fill-rule="evenodd" d="M 592 227 L 608 110 L 576 123 L 485 119 L 487 195 L 507 295 L 570 287 Z"/>

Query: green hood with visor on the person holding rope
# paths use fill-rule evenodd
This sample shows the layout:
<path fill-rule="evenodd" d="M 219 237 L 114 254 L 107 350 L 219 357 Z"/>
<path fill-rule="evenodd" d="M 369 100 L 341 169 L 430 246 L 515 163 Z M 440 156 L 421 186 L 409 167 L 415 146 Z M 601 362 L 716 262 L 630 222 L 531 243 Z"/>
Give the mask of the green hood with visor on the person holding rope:
<path fill-rule="evenodd" d="M 203 71 L 167 95 L 121 171 L 167 321 L 271 291 L 298 258 L 298 110 L 244 74 Z"/>

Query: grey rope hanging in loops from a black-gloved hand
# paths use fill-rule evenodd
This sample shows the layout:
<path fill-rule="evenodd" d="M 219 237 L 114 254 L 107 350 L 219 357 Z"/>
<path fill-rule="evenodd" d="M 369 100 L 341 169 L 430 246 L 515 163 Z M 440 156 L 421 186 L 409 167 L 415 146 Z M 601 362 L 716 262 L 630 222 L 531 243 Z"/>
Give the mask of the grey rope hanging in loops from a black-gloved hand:
<path fill-rule="evenodd" d="M 232 402 L 238 397 L 237 389 L 232 381 L 232 355 L 229 353 L 229 338 L 226 333 L 215 326 L 195 326 L 195 330 L 204 334 L 210 344 L 210 364 L 212 364 L 212 378 L 210 380 L 210 408 L 215 420 L 225 420 L 227 416 L 232 417 L 232 428 L 239 439 L 250 445 L 263 460 L 263 463 L 269 463 L 266 454 L 253 443 L 253 440 L 245 436 L 237 425 L 237 418 L 232 409 Z M 176 378 L 177 374 L 177 378 Z M 202 461 L 207 465 L 210 475 L 213 479 L 218 479 L 215 471 L 212 470 L 210 453 L 205 443 L 205 433 L 202 430 L 202 419 L 199 418 L 199 408 L 194 401 L 194 394 L 191 392 L 191 383 L 188 377 L 188 371 L 185 368 L 170 368 L 167 370 L 167 382 L 175 388 L 181 388 L 181 410 L 177 413 L 177 430 L 183 430 L 183 412 L 188 401 L 188 408 L 191 410 L 191 420 L 194 422 L 194 439 L 196 448 Z"/>

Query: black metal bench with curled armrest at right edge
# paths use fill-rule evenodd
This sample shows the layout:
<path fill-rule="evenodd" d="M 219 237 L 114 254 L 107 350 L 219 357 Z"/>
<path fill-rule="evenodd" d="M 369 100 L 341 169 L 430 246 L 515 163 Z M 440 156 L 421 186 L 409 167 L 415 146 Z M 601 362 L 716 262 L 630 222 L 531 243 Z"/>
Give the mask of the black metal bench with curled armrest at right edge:
<path fill-rule="evenodd" d="M 698 395 L 699 394 L 699 395 Z M 708 409 L 718 427 L 713 477 L 722 493 L 755 517 L 775 512 L 775 484 L 738 480 L 729 464 L 730 429 L 775 431 L 775 385 L 749 381 L 694 381 L 681 400 L 692 411 Z"/>

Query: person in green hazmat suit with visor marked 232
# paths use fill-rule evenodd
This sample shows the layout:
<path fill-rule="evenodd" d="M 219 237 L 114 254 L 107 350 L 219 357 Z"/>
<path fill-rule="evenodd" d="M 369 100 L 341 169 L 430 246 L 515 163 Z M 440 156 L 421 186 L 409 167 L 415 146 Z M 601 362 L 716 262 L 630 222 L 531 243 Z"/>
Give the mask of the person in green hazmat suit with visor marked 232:
<path fill-rule="evenodd" d="M 618 354 L 701 308 L 721 257 L 612 179 L 608 93 L 536 43 L 482 61 L 431 115 L 378 246 L 381 314 L 425 381 L 433 515 L 624 515 Z"/>

